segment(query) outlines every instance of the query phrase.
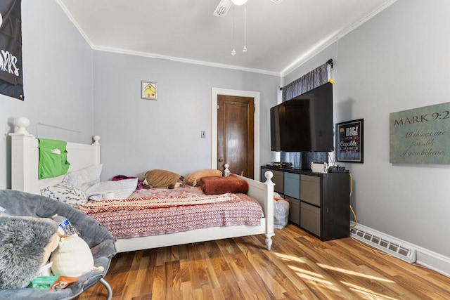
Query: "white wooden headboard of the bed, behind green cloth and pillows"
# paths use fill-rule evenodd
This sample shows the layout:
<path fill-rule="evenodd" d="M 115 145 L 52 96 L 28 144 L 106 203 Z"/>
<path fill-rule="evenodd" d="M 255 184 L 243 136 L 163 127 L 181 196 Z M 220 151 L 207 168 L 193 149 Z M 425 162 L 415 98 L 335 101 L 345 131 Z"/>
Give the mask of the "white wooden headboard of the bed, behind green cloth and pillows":
<path fill-rule="evenodd" d="M 11 189 L 40 195 L 42 188 L 63 180 L 64 175 L 56 178 L 38 179 L 39 141 L 30 133 L 9 133 L 11 136 Z M 68 143 L 69 171 L 76 171 L 100 164 L 100 143 L 92 145 Z"/>

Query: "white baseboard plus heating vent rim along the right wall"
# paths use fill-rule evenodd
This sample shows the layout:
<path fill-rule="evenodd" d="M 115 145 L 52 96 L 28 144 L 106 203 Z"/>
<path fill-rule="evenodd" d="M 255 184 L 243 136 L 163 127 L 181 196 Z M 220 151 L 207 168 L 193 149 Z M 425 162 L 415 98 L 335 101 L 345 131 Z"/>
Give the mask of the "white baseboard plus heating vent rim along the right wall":
<path fill-rule="evenodd" d="M 354 222 L 350 222 L 352 226 L 354 226 Z M 361 224 L 357 224 L 356 228 L 364 230 L 364 232 L 366 233 L 371 233 L 371 234 L 375 234 L 378 235 L 380 237 L 383 237 L 387 240 L 390 241 L 394 241 L 398 244 L 403 245 L 404 247 L 408 248 L 408 249 L 413 249 L 416 252 L 416 257 L 415 257 L 415 261 L 416 263 L 420 264 L 421 266 L 425 266 L 427 268 L 430 268 L 431 270 L 435 270 L 438 273 L 441 273 L 442 275 L 445 275 L 447 277 L 450 277 L 450 258 L 443 256 L 441 254 L 438 254 L 436 252 L 432 252 L 428 249 L 425 249 L 423 247 L 419 247 L 416 244 L 411 244 L 410 242 L 406 242 L 404 240 L 399 240 L 397 237 L 393 237 L 392 235 L 387 235 L 385 233 L 381 233 L 378 230 L 375 230 L 373 228 L 361 225 Z M 351 234 L 352 237 L 355 237 L 353 234 Z M 375 246 L 372 242 L 364 239 L 363 238 L 359 238 L 359 237 L 355 237 L 358 240 L 360 240 L 361 242 L 365 242 L 366 244 L 371 244 L 372 246 Z M 389 249 L 382 249 L 382 247 L 377 247 L 378 249 L 381 249 L 387 253 L 393 254 L 389 251 Z M 397 256 L 395 254 L 393 254 L 394 256 Z M 400 259 L 402 259 L 401 257 L 399 257 Z M 405 259 L 403 259 L 405 260 Z M 407 261 L 407 260 L 405 260 Z"/>

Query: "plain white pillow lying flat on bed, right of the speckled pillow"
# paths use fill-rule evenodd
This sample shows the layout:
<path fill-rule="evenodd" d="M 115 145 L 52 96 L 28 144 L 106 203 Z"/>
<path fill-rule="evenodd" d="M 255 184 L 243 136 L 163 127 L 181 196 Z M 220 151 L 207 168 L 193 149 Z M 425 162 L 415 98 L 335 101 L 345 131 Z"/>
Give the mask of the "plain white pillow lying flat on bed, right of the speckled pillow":
<path fill-rule="evenodd" d="M 92 185 L 86 190 L 86 195 L 91 200 L 101 200 L 101 194 L 113 192 L 113 199 L 127 199 L 138 185 L 138 178 L 123 179 L 120 181 L 102 181 Z M 100 195 L 91 197 L 92 195 Z"/>

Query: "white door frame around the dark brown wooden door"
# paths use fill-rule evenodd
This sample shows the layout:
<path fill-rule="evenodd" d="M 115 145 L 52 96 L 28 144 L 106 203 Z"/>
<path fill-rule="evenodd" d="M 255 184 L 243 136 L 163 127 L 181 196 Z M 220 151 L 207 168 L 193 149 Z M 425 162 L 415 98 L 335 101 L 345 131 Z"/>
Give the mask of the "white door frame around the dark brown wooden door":
<path fill-rule="evenodd" d="M 250 97 L 255 99 L 255 124 L 254 124 L 254 171 L 253 177 L 259 181 L 259 91 L 238 91 L 230 89 L 212 88 L 211 93 L 211 168 L 217 168 L 217 96 L 238 96 Z M 225 162 L 226 163 L 226 162 Z M 233 166 L 230 166 L 233 172 Z"/>

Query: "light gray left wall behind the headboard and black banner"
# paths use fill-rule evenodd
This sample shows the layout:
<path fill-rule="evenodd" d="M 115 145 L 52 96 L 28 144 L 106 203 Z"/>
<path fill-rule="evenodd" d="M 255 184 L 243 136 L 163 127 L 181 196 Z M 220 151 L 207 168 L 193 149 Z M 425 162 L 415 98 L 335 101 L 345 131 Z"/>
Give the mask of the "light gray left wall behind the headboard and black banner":
<path fill-rule="evenodd" d="M 54 0 L 22 0 L 25 101 L 0 95 L 0 188 L 11 188 L 13 119 L 53 124 L 70 133 L 39 126 L 39 136 L 88 143 L 92 136 L 92 50 Z"/>

